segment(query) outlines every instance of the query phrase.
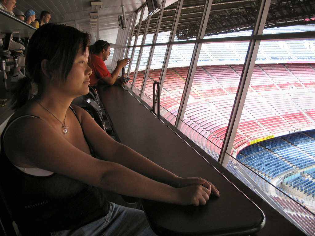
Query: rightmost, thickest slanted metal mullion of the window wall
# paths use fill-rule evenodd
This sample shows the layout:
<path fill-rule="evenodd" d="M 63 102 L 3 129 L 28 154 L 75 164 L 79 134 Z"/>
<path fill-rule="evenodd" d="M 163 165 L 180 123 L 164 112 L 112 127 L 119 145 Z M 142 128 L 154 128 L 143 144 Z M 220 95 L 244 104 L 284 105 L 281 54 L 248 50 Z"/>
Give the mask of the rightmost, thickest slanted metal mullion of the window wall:
<path fill-rule="evenodd" d="M 255 39 L 255 35 L 262 34 L 269 10 L 271 0 L 261 0 L 258 14 L 256 16 L 255 27 L 252 33 L 252 39 L 249 42 L 249 47 L 246 55 L 246 60 L 244 63 L 242 75 L 238 85 L 238 92 L 235 96 L 234 105 L 232 108 L 230 120 L 227 126 L 225 138 L 219 155 L 219 163 L 223 166 L 227 166 L 227 161 L 230 157 L 234 143 L 234 138 L 238 129 L 238 124 L 242 115 L 245 99 L 247 96 L 247 91 L 249 87 L 249 82 L 254 70 L 255 60 L 257 57 L 260 40 Z"/>

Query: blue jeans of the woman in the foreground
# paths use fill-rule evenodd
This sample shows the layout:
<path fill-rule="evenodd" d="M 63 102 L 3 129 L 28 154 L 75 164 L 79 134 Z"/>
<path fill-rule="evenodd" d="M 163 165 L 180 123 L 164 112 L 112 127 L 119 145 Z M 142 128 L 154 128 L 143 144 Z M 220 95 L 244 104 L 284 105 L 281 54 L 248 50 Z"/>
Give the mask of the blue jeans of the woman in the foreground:
<path fill-rule="evenodd" d="M 51 232 L 51 236 L 151 236 L 156 235 L 143 211 L 110 202 L 108 214 L 78 229 Z"/>

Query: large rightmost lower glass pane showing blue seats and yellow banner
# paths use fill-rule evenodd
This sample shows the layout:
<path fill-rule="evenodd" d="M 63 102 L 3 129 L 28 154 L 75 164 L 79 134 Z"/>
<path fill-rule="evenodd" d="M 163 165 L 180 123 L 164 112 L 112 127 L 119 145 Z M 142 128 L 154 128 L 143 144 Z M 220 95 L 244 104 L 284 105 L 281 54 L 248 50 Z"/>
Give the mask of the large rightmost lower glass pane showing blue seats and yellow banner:
<path fill-rule="evenodd" d="M 237 130 L 242 138 L 232 150 L 248 172 L 282 190 L 275 194 L 265 181 L 260 184 L 307 232 L 302 215 L 308 222 L 314 220 L 308 211 L 315 213 L 314 46 L 314 40 L 261 42 L 266 59 L 256 60 Z"/>

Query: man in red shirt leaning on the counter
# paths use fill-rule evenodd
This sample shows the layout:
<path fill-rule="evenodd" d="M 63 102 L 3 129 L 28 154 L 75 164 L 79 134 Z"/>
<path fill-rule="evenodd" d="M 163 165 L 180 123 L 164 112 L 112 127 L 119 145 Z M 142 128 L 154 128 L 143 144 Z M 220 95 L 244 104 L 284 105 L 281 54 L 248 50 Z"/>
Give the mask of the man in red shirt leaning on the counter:
<path fill-rule="evenodd" d="M 89 58 L 89 67 L 92 69 L 90 75 L 90 86 L 94 87 L 98 83 L 105 82 L 106 84 L 113 85 L 114 83 L 125 84 L 120 81 L 119 72 L 120 70 L 129 64 L 130 59 L 125 58 L 117 61 L 117 66 L 113 70 L 112 74 L 107 70 L 104 63 L 111 54 L 111 48 L 108 42 L 104 40 L 98 40 L 94 45 L 90 46 L 91 55 Z"/>

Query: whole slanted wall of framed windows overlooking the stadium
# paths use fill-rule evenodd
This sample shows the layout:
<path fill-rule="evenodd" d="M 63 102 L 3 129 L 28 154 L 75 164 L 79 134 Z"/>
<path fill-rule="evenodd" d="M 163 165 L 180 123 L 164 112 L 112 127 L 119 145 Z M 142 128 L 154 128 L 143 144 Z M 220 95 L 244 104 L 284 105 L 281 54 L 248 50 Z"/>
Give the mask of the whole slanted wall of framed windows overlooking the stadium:
<path fill-rule="evenodd" d="M 315 151 L 305 150 L 315 150 L 309 131 L 315 129 L 315 26 L 307 24 L 313 19 L 288 13 L 295 25 L 282 27 L 284 8 L 274 2 L 265 12 L 261 1 L 209 8 L 207 0 L 179 2 L 158 13 L 157 35 L 149 25 L 144 45 L 141 34 L 138 46 L 131 44 L 129 86 L 151 106 L 152 84 L 159 81 L 161 115 L 308 232 L 301 221 L 304 215 L 308 223 L 315 220 Z M 158 14 L 150 22 L 157 24 Z M 301 140 L 284 137 L 290 134 Z M 283 143 L 286 138 L 291 141 Z M 284 146 L 298 148 L 288 158 Z M 297 193 L 290 184 L 300 177 L 310 186 Z"/>

